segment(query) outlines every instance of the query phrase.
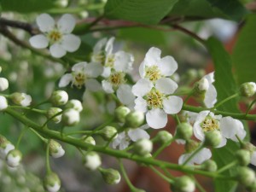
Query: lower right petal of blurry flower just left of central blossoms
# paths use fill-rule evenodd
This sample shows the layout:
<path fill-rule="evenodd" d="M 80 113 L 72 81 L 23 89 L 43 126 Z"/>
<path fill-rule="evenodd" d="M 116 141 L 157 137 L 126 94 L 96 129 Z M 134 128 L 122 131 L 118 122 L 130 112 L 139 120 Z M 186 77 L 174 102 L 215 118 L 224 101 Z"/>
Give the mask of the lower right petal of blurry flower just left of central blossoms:
<path fill-rule="evenodd" d="M 131 92 L 131 86 L 128 84 L 121 84 L 116 94 L 119 101 L 125 105 L 130 105 L 135 100 L 135 96 Z"/>

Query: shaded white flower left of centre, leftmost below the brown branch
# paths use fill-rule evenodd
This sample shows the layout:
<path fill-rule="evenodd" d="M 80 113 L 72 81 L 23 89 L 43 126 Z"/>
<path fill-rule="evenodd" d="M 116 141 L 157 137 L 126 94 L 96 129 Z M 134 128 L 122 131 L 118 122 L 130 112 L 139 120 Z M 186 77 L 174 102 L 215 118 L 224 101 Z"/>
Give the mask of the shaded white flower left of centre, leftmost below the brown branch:
<path fill-rule="evenodd" d="M 99 63 L 79 62 L 72 67 L 72 73 L 64 74 L 59 82 L 59 87 L 66 87 L 72 83 L 79 89 L 83 85 L 88 90 L 100 90 L 102 85 L 95 79 L 102 74 L 103 67 Z"/>

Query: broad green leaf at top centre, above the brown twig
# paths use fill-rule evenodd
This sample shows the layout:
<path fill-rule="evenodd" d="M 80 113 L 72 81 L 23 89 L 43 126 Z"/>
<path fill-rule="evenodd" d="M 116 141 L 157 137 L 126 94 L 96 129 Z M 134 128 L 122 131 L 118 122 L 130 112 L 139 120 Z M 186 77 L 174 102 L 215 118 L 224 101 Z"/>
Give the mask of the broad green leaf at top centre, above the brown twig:
<path fill-rule="evenodd" d="M 178 0 L 108 0 L 105 15 L 110 19 L 157 24 Z"/>

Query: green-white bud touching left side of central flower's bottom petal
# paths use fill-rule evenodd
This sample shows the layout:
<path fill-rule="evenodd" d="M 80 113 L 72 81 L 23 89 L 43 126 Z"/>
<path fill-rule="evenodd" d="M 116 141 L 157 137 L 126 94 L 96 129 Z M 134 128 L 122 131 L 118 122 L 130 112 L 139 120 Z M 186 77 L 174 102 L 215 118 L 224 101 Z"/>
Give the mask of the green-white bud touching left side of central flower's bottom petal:
<path fill-rule="evenodd" d="M 140 111 L 133 111 L 127 114 L 125 117 L 125 124 L 131 128 L 137 128 L 143 125 L 144 122 L 144 113 Z"/>

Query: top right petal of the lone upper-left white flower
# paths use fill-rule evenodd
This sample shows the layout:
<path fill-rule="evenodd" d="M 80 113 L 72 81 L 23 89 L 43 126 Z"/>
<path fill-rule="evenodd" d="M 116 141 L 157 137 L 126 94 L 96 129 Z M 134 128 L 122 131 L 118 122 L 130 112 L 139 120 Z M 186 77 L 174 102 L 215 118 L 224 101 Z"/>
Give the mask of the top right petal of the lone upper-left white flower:
<path fill-rule="evenodd" d="M 57 23 L 58 29 L 63 33 L 72 32 L 75 25 L 76 25 L 76 20 L 70 14 L 62 15 L 61 19 L 58 20 L 58 23 Z"/>

